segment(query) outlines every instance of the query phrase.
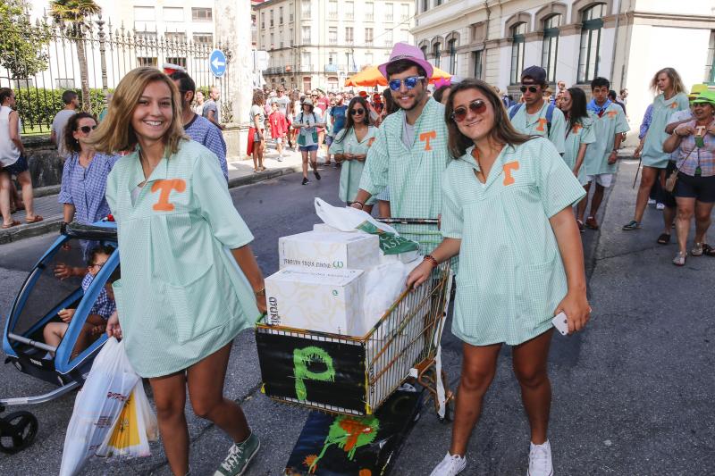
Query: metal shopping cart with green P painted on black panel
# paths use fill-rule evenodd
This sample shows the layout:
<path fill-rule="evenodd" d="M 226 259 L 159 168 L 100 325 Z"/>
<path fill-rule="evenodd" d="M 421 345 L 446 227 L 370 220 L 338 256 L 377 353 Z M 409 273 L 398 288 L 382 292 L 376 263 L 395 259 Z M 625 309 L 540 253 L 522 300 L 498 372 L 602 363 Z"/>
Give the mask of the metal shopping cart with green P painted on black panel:
<path fill-rule="evenodd" d="M 363 337 L 273 326 L 262 319 L 256 326 L 262 391 L 284 403 L 365 416 L 411 377 L 429 390 L 439 413 L 440 403 L 452 398 L 442 387 L 447 379 L 438 355 L 450 285 L 450 263 L 442 263 L 421 287 L 403 292 Z"/>

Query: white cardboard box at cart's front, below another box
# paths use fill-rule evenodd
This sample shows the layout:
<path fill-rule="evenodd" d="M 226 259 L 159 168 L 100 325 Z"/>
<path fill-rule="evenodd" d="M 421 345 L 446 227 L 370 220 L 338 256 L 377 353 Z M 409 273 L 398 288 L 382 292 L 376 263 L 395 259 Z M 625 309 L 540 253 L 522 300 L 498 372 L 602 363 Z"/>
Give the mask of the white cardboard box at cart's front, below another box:
<path fill-rule="evenodd" d="M 352 335 L 363 324 L 363 271 L 289 266 L 265 279 L 269 325 Z"/>

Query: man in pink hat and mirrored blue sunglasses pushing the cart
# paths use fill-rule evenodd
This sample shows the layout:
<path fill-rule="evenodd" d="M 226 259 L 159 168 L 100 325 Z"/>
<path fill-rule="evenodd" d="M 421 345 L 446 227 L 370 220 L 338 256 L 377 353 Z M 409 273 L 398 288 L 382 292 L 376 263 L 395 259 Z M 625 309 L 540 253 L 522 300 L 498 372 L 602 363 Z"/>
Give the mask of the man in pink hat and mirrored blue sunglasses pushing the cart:
<path fill-rule="evenodd" d="M 427 94 L 432 64 L 416 46 L 398 43 L 390 61 L 377 67 L 388 79 L 392 98 L 400 110 L 385 118 L 367 153 L 360 189 L 352 206 L 362 208 L 374 195 L 390 189 L 391 216 L 438 218 L 442 206 L 442 171 L 450 154 L 444 106 Z M 383 195 L 378 196 L 383 199 Z M 425 225 L 398 225 L 405 238 L 421 242 L 427 255 L 442 240 Z"/>

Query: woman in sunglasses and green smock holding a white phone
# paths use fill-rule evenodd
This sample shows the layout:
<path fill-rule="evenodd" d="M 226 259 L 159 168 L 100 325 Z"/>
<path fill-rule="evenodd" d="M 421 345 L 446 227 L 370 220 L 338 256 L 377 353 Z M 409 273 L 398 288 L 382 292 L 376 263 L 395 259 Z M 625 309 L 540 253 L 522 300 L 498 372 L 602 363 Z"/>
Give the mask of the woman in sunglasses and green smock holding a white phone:
<path fill-rule="evenodd" d="M 575 332 L 590 313 L 572 209 L 584 188 L 549 140 L 521 135 L 506 114 L 484 81 L 452 89 L 445 118 L 459 158 L 442 177 L 445 239 L 408 277 L 408 285 L 420 285 L 435 265 L 459 255 L 452 332 L 464 341 L 462 375 L 450 452 L 435 476 L 466 467 L 467 440 L 505 343 L 513 346 L 531 422 L 529 474 L 551 474 L 551 319 L 563 311 Z"/>

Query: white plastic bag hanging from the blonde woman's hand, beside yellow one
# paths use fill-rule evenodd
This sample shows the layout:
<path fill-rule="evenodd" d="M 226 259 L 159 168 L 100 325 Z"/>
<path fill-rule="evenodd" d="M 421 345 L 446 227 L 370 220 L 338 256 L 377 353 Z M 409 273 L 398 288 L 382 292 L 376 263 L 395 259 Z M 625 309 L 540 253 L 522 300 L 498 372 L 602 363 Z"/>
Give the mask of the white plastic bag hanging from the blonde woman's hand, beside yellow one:
<path fill-rule="evenodd" d="M 77 394 L 64 437 L 60 476 L 79 474 L 114 428 L 122 408 L 137 385 L 123 342 L 109 338 L 95 358 L 84 387 Z"/>

